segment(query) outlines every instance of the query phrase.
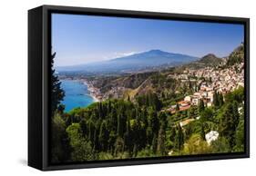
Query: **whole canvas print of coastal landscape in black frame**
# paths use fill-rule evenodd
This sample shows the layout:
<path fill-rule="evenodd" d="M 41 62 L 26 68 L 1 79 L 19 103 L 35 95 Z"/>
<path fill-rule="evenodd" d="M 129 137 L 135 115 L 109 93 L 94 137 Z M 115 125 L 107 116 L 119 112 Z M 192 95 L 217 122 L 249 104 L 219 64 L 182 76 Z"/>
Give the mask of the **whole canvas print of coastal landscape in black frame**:
<path fill-rule="evenodd" d="M 249 157 L 249 19 L 28 11 L 28 165 Z"/>

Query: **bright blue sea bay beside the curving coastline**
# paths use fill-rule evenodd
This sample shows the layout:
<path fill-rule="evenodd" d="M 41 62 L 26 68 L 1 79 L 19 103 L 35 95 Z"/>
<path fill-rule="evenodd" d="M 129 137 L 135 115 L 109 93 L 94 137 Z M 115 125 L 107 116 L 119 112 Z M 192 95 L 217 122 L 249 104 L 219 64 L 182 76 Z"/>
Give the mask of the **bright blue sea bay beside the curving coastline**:
<path fill-rule="evenodd" d="M 77 107 L 87 107 L 94 103 L 94 99 L 90 96 L 87 85 L 74 80 L 61 80 L 61 87 L 65 91 L 65 97 L 62 101 L 65 104 L 65 112 Z"/>

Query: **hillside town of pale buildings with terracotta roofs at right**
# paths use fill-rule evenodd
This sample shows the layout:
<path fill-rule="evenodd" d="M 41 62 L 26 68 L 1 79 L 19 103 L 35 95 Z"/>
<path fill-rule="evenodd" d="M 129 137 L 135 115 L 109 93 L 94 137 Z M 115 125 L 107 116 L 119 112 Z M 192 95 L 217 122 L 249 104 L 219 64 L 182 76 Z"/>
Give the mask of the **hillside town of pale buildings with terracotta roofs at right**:
<path fill-rule="evenodd" d="M 240 86 L 244 87 L 243 67 L 244 63 L 241 63 L 225 69 L 206 67 L 199 70 L 186 69 L 182 74 L 169 74 L 170 77 L 181 82 L 197 82 L 200 85 L 197 92 L 187 95 L 184 100 L 179 101 L 179 111 L 188 110 L 191 105 L 199 105 L 200 100 L 204 102 L 205 106 L 210 107 L 215 92 L 224 95 Z M 190 79 L 190 77 L 193 77 L 193 79 Z M 200 80 L 200 78 L 204 79 Z M 176 106 L 177 104 L 170 106 L 168 111 L 174 113 Z"/>

